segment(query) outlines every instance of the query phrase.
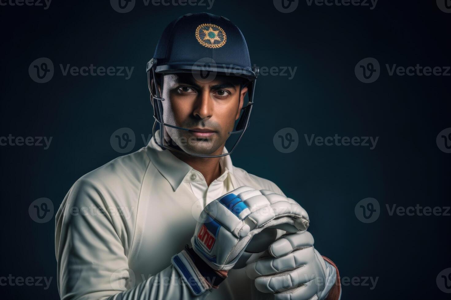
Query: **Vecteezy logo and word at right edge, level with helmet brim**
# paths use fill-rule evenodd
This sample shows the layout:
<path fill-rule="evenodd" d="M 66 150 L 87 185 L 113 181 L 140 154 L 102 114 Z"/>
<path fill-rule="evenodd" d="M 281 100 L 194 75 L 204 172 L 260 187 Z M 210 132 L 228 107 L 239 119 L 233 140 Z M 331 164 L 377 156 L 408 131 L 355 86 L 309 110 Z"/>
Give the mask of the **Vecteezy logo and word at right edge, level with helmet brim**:
<path fill-rule="evenodd" d="M 415 66 L 398 66 L 395 64 L 385 64 L 388 76 L 451 76 L 450 66 L 421 66 L 417 63 Z M 359 81 L 372 83 L 379 78 L 382 72 L 379 62 L 376 58 L 364 58 L 354 67 L 355 76 Z"/>

